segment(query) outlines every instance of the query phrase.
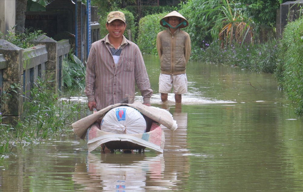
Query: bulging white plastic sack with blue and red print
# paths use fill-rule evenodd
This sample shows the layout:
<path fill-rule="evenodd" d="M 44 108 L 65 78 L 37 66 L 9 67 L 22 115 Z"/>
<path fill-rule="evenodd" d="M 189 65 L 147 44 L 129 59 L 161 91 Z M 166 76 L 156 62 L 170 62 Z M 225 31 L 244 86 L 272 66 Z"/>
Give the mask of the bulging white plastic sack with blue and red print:
<path fill-rule="evenodd" d="M 116 134 L 145 133 L 146 121 L 137 109 L 119 106 L 105 114 L 100 128 L 102 131 Z"/>

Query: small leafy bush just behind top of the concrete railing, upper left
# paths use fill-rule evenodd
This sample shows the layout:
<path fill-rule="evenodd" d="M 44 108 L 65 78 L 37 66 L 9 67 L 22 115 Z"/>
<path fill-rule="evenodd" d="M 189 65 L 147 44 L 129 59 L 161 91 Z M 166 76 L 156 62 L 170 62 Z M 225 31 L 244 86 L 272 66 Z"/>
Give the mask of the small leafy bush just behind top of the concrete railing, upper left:
<path fill-rule="evenodd" d="M 35 39 L 37 39 L 41 35 L 46 35 L 46 33 L 43 33 L 41 30 L 34 30 L 33 32 L 31 32 L 32 28 L 25 29 L 24 33 L 16 34 L 14 33 L 14 31 L 15 26 L 12 27 L 11 31 L 8 31 L 8 34 L 5 35 L 4 39 L 23 49 L 33 47 L 33 41 Z"/>

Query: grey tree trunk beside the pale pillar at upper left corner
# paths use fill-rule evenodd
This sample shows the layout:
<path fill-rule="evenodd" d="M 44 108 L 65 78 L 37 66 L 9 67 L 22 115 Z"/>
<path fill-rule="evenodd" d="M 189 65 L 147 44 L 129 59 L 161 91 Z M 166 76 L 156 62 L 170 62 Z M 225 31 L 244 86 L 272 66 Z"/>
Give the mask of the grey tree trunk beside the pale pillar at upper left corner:
<path fill-rule="evenodd" d="M 16 0 L 15 33 L 24 33 L 27 0 Z"/>

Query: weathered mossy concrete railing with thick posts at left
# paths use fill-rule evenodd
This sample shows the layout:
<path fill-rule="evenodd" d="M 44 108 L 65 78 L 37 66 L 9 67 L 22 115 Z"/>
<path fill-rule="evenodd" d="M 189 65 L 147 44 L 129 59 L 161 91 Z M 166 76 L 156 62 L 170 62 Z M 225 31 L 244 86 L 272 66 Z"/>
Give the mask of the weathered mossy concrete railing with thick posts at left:
<path fill-rule="evenodd" d="M 23 102 L 30 98 L 30 89 L 38 77 L 51 79 L 50 86 L 61 89 L 62 61 L 70 51 L 68 40 L 55 41 L 45 35 L 39 37 L 35 46 L 22 49 L 12 43 L 0 40 L 0 85 L 2 90 L 10 90 L 11 84 L 20 86 L 18 93 L 2 102 L 1 114 L 3 123 L 14 123 L 21 118 Z"/>

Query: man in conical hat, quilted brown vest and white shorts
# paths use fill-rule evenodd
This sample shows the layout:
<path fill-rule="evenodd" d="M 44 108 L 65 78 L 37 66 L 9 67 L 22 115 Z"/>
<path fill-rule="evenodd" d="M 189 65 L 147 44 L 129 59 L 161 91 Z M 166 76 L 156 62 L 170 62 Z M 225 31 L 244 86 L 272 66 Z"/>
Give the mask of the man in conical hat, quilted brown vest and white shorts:
<path fill-rule="evenodd" d="M 160 25 L 167 29 L 157 35 L 157 51 L 161 62 L 159 92 L 161 101 L 168 100 L 168 93 L 173 88 L 175 102 L 181 103 L 182 94 L 187 93 L 186 64 L 191 52 L 188 33 L 180 28 L 188 26 L 188 21 L 178 12 L 173 11 L 160 20 Z"/>

